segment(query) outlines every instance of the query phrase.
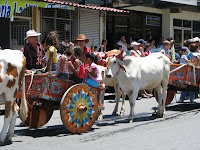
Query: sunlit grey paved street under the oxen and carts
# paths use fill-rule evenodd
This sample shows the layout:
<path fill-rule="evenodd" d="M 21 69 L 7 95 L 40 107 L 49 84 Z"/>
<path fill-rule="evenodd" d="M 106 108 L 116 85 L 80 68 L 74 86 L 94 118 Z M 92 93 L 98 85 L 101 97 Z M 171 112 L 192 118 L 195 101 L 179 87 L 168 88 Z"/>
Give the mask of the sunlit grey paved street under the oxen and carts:
<path fill-rule="evenodd" d="M 80 135 L 63 127 L 58 110 L 54 111 L 48 124 L 37 130 L 19 127 L 20 119 L 17 118 L 13 143 L 0 147 L 0 150 L 197 150 L 200 149 L 200 99 L 196 102 L 177 104 L 173 100 L 166 108 L 165 118 L 154 118 L 155 99 L 137 100 L 134 123 L 128 123 L 128 100 L 124 119 L 111 116 L 114 103 L 106 100 L 104 120 Z M 1 115 L 0 128 L 2 125 Z"/>

